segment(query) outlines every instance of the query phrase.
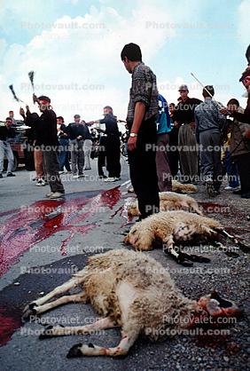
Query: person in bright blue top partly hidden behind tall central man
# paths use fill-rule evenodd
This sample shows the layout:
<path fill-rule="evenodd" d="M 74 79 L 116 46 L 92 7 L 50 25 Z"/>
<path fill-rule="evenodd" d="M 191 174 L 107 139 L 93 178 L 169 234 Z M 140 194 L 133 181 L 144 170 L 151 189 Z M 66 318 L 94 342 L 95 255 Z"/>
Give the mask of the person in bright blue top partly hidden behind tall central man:
<path fill-rule="evenodd" d="M 172 191 L 172 175 L 169 168 L 167 146 L 171 131 L 167 100 L 159 94 L 159 114 L 157 117 L 156 169 L 160 192 Z"/>

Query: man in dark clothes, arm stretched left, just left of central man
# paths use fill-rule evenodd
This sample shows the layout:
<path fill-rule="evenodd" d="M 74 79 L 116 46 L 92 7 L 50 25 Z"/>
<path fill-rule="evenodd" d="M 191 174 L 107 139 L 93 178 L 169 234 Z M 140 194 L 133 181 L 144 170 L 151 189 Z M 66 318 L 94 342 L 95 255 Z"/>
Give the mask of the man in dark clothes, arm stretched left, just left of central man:
<path fill-rule="evenodd" d="M 105 130 L 96 128 L 105 135 L 106 170 L 108 171 L 108 178 L 105 179 L 105 182 L 116 182 L 121 179 L 121 142 L 117 118 L 113 115 L 113 108 L 105 106 L 104 118 L 90 123 L 105 123 Z"/>

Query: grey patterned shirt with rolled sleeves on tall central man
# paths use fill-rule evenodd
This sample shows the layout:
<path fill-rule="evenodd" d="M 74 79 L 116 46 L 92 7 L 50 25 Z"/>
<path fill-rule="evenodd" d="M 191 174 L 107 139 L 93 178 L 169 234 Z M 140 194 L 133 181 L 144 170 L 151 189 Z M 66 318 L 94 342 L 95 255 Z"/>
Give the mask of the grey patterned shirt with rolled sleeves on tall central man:
<path fill-rule="evenodd" d="M 158 89 L 156 76 L 150 67 L 140 62 L 132 72 L 132 86 L 129 94 L 127 122 L 131 125 L 134 120 L 137 102 L 145 104 L 145 118 L 148 120 L 158 114 Z"/>

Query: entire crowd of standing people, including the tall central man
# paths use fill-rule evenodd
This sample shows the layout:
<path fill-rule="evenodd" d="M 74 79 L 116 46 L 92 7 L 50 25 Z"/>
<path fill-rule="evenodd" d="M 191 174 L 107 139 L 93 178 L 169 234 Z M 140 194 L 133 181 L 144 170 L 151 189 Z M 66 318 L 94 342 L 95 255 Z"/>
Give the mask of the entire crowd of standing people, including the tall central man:
<path fill-rule="evenodd" d="M 33 97 L 41 115 L 29 107 L 20 114 L 27 130 L 27 144 L 35 160 L 36 186 L 51 186 L 51 199 L 65 193 L 60 174 L 66 169 L 73 178 L 84 177 L 91 169 L 91 154 L 98 144 L 98 177 L 107 182 L 121 179 L 121 153 L 128 156 L 129 172 L 142 217 L 159 210 L 159 191 L 171 191 L 172 179 L 183 183 L 203 184 L 209 196 L 221 192 L 227 174 L 226 190 L 250 198 L 250 67 L 240 81 L 248 94 L 247 107 L 231 98 L 226 107 L 214 99 L 212 85 L 203 88 L 203 101 L 189 97 L 182 84 L 178 103 L 170 103 L 157 89 L 156 76 L 142 61 L 140 47 L 129 43 L 121 51 L 124 67 L 132 75 L 126 131 L 121 135 L 113 108 L 104 107 L 101 120 L 74 122 L 66 125 L 63 116 L 51 108 L 51 99 Z M 168 99 L 168 97 L 167 97 Z M 4 156 L 8 160 L 7 177 L 12 177 L 12 148 L 9 139 L 15 133 L 13 115 L 0 127 L 0 178 L 3 178 Z M 95 128 L 90 129 L 92 125 Z M 102 125 L 102 128 L 101 128 Z M 123 149 L 121 151 L 121 142 Z M 105 175 L 104 168 L 108 175 Z"/>

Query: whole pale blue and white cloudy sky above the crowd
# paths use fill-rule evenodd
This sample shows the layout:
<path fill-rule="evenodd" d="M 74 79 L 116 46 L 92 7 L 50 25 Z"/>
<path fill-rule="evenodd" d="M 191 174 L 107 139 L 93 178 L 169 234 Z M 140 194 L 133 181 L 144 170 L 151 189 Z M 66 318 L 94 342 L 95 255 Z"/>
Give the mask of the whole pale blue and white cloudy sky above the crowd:
<path fill-rule="evenodd" d="M 27 73 L 35 71 L 35 93 L 47 95 L 58 115 L 72 122 L 98 119 L 102 107 L 126 118 L 131 76 L 121 63 L 125 43 L 141 46 L 170 102 L 187 83 L 201 99 L 193 72 L 215 86 L 223 104 L 240 100 L 238 79 L 250 42 L 250 0 L 0 0 L 0 119 L 32 104 Z"/>

